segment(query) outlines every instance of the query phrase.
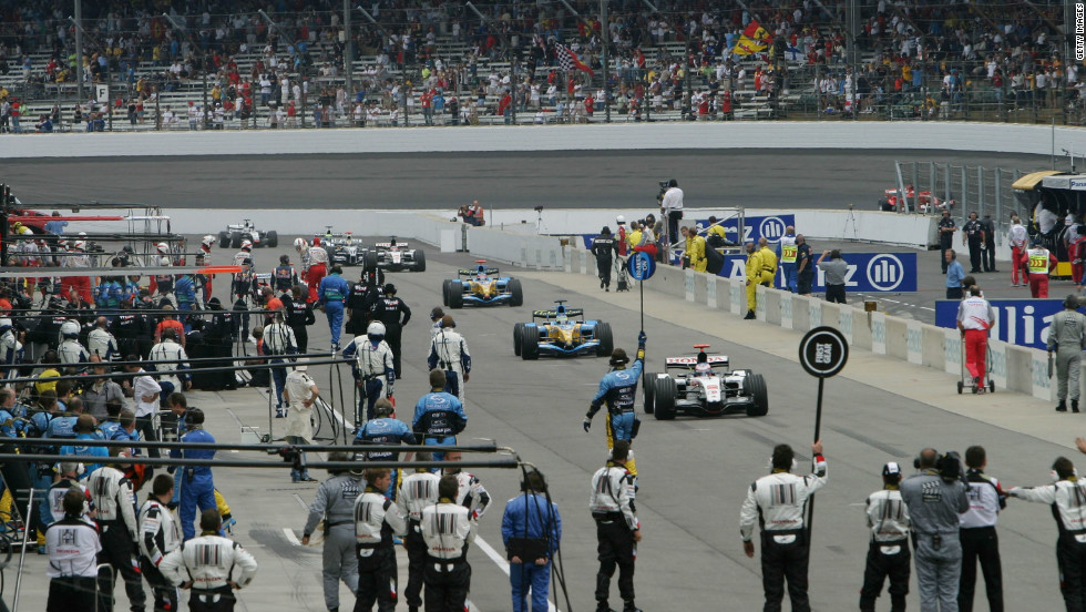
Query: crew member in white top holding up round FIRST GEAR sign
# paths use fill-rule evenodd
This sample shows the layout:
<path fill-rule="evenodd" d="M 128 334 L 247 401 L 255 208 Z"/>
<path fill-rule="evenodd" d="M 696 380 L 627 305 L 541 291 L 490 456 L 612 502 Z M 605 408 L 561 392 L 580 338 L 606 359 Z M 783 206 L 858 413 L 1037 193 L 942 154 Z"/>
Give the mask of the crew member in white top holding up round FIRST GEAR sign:
<path fill-rule="evenodd" d="M 739 514 L 742 551 L 754 558 L 755 521 L 761 526 L 761 582 L 766 591 L 766 612 L 781 609 L 785 579 L 793 612 L 810 612 L 807 598 L 807 564 L 810 544 L 807 539 L 807 500 L 826 486 L 826 459 L 822 441 L 811 445 L 813 471 L 809 476 L 790 473 L 796 453 L 788 445 L 777 445 L 772 455 L 772 473 L 756 480 L 747 491 Z"/>

